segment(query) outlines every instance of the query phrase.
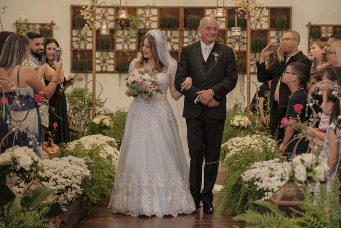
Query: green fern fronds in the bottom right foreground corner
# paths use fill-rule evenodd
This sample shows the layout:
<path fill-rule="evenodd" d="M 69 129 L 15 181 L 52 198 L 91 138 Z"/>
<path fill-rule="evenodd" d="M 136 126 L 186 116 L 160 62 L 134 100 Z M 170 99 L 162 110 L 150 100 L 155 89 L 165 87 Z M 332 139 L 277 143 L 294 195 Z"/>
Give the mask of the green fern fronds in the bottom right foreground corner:
<path fill-rule="evenodd" d="M 303 187 L 306 198 L 300 206 L 303 212 L 291 209 L 294 213 L 288 217 L 274 205 L 265 201 L 256 201 L 255 205 L 266 208 L 269 213 L 261 214 L 254 210 L 233 217 L 235 221 L 245 221 L 245 228 L 340 228 L 341 206 L 338 205 L 340 181 L 335 178 L 332 193 L 320 187 L 313 196 L 307 187 Z"/>

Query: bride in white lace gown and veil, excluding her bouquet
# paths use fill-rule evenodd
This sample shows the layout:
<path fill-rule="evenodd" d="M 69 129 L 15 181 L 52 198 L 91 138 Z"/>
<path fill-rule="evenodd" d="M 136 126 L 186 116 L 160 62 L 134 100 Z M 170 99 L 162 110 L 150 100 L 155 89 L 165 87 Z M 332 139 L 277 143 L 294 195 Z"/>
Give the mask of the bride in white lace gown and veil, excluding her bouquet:
<path fill-rule="evenodd" d="M 195 204 L 189 189 L 189 170 L 178 126 L 167 100 L 181 97 L 174 87 L 177 63 L 170 56 L 161 30 L 149 30 L 141 41 L 141 58 L 132 60 L 133 69 L 152 70 L 163 92 L 150 98 L 136 96 L 125 124 L 116 177 L 109 203 L 112 213 L 130 216 L 191 214 Z M 182 89 L 189 89 L 187 78 Z M 126 89 L 126 95 L 134 95 Z"/>

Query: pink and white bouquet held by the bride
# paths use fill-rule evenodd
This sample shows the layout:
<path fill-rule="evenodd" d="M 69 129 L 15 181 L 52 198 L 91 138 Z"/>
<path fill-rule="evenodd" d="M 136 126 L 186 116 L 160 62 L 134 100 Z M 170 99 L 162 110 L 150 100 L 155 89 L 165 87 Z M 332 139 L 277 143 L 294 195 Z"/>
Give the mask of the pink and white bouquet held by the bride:
<path fill-rule="evenodd" d="M 158 81 L 151 70 L 140 68 L 131 71 L 125 78 L 125 85 L 133 94 L 140 94 L 143 98 L 152 97 L 156 93 L 163 93 L 158 89 Z"/>

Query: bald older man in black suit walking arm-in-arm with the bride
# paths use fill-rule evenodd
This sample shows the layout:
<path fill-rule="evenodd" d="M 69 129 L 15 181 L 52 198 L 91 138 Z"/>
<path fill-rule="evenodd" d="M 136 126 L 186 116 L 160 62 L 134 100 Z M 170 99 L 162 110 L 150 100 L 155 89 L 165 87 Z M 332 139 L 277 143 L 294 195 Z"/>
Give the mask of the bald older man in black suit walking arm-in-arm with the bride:
<path fill-rule="evenodd" d="M 226 95 L 236 85 L 238 75 L 232 48 L 216 41 L 218 23 L 207 16 L 200 21 L 200 41 L 185 46 L 175 77 L 175 87 L 185 95 L 190 162 L 190 189 L 196 208 L 203 202 L 204 212 L 213 213 L 212 190 L 217 179 L 220 148 L 226 119 Z M 193 86 L 181 91 L 191 77 Z M 204 189 L 201 191 L 205 157 Z"/>

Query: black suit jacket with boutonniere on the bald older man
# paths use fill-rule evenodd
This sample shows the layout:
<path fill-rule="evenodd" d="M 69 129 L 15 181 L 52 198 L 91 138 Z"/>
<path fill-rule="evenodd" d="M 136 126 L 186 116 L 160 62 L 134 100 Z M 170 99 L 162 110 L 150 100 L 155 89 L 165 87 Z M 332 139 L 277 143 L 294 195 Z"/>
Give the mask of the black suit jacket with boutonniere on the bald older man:
<path fill-rule="evenodd" d="M 232 48 L 216 41 L 211 54 L 214 52 L 219 56 L 217 61 L 212 56 L 205 77 L 200 40 L 182 48 L 175 76 L 175 87 L 185 95 L 183 112 L 185 118 L 197 118 L 202 111 L 205 111 L 206 115 L 211 119 L 226 119 L 226 95 L 237 83 L 237 68 Z M 186 77 L 192 78 L 193 85 L 190 89 L 181 91 L 181 84 Z M 219 102 L 218 107 L 210 108 L 199 100 L 197 104 L 194 103 L 198 97 L 197 92 L 207 89 L 213 89 L 214 98 Z"/>

